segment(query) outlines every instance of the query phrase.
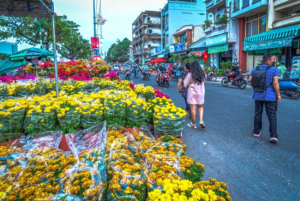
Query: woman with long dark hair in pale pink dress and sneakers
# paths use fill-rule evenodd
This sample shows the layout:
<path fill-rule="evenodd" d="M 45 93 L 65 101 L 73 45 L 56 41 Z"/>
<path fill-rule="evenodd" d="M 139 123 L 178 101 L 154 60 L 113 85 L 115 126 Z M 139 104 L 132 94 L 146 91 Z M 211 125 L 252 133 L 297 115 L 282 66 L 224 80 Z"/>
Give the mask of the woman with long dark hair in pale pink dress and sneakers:
<path fill-rule="evenodd" d="M 204 104 L 204 95 L 205 88 L 204 83 L 206 81 L 206 75 L 203 72 L 200 64 L 194 61 L 190 66 L 190 73 L 187 74 L 184 79 L 184 86 L 188 86 L 187 91 L 187 103 L 190 104 L 190 114 L 192 117 L 192 122 L 187 124 L 190 128 L 197 128 L 196 125 L 196 107 L 199 112 L 199 126 L 205 128 L 203 122 L 203 104 Z"/>

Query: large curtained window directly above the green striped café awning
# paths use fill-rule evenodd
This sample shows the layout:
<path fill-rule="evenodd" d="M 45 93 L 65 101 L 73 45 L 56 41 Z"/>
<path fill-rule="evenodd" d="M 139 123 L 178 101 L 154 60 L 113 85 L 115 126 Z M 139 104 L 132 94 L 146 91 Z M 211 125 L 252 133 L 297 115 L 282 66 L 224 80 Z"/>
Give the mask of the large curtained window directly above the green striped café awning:
<path fill-rule="evenodd" d="M 247 17 L 246 37 L 265 32 L 267 29 L 267 12 L 261 12 Z"/>

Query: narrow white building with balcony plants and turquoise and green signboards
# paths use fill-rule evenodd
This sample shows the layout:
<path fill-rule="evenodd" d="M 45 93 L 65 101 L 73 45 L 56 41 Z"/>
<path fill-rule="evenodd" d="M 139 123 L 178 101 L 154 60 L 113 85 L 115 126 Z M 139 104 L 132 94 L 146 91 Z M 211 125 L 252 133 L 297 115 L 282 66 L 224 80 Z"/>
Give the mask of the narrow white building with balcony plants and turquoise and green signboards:
<path fill-rule="evenodd" d="M 206 47 L 211 65 L 235 61 L 238 49 L 238 20 L 230 16 L 230 0 L 203 0 L 206 4 Z M 210 26 L 209 26 L 210 25 Z"/>

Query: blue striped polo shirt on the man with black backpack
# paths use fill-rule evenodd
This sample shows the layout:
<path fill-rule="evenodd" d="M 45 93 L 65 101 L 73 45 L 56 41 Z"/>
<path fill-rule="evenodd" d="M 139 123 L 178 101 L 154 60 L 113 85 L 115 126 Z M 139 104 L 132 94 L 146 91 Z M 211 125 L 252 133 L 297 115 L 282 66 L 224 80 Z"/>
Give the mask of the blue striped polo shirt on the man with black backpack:
<path fill-rule="evenodd" d="M 261 65 L 259 69 L 265 70 L 267 66 L 268 65 Z M 250 76 L 252 76 L 252 73 L 254 70 L 256 70 L 256 67 L 251 70 Z M 267 86 L 269 86 L 271 83 L 273 83 L 273 77 L 280 76 L 280 75 L 281 75 L 280 70 L 277 67 L 273 66 L 273 67 L 269 68 L 267 70 Z M 271 84 L 267 88 L 267 90 L 265 90 L 264 92 L 253 91 L 252 99 L 258 100 L 258 101 L 276 101 L 277 93 L 274 89 L 273 84 Z"/>

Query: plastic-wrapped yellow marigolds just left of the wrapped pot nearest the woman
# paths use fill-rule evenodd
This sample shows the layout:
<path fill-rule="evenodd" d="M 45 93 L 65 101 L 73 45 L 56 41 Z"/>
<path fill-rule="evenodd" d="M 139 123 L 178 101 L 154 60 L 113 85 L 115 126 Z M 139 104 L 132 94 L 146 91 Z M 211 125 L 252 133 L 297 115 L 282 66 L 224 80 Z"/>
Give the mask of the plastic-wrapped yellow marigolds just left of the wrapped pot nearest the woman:
<path fill-rule="evenodd" d="M 141 127 L 148 117 L 148 106 L 144 98 L 129 97 L 126 101 L 126 126 L 128 128 Z"/>

